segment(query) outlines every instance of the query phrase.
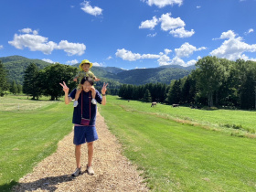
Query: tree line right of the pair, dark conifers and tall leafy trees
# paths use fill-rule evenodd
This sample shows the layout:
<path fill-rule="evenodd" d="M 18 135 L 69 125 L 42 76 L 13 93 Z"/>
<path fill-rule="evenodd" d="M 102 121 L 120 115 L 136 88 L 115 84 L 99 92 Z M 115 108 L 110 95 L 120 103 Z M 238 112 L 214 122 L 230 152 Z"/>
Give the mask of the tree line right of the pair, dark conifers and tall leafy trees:
<path fill-rule="evenodd" d="M 205 57 L 196 69 L 169 85 L 149 83 L 122 85 L 119 96 L 126 100 L 158 101 L 197 107 L 256 109 L 256 62 Z"/>

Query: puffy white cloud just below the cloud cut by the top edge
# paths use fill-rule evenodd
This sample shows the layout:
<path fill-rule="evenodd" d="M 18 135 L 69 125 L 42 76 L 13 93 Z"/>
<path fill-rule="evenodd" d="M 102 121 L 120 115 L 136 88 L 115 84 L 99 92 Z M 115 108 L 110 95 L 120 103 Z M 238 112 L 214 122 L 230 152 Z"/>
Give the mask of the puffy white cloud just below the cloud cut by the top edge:
<path fill-rule="evenodd" d="M 139 28 L 154 29 L 158 23 L 161 23 L 162 30 L 169 31 L 169 33 L 173 37 L 184 38 L 191 37 L 195 34 L 194 29 L 187 31 L 185 29 L 185 22 L 180 17 L 172 17 L 171 13 L 163 14 L 160 18 L 156 18 L 156 16 L 153 16 L 153 19 L 143 21 Z"/>

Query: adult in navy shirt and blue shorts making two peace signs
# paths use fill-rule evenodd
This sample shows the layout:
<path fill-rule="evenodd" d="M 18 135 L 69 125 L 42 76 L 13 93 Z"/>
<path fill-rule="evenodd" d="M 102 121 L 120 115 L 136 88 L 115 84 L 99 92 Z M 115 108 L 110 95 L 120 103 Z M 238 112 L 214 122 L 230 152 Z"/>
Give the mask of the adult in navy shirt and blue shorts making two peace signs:
<path fill-rule="evenodd" d="M 65 92 L 65 103 L 69 104 L 75 98 L 76 89 L 71 91 L 69 94 L 69 88 L 65 82 L 59 83 L 63 87 Z M 73 121 L 74 123 L 74 141 L 75 147 L 75 156 L 77 168 L 72 176 L 79 176 L 81 173 L 80 165 L 80 147 L 81 144 L 87 143 L 88 146 L 88 164 L 86 171 L 89 175 L 93 175 L 94 171 L 92 169 L 92 155 L 93 155 L 93 142 L 98 139 L 98 134 L 96 132 L 95 122 L 96 122 L 96 113 L 97 105 L 91 104 L 91 86 L 93 85 L 93 80 L 91 78 L 83 78 L 80 81 L 82 85 L 82 91 L 80 93 L 79 105 L 74 108 L 73 112 Z M 103 84 L 101 89 L 101 94 L 96 90 L 95 100 L 102 105 L 106 104 L 106 91 L 107 85 Z"/>

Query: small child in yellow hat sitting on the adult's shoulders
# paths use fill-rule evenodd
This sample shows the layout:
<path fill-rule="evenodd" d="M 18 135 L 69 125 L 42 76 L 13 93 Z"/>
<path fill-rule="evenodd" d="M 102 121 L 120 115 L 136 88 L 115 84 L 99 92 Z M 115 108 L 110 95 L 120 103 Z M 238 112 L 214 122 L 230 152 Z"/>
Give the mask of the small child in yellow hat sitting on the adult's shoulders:
<path fill-rule="evenodd" d="M 96 76 L 91 72 L 91 67 L 92 67 L 92 63 L 87 60 L 87 59 L 84 59 L 80 62 L 80 72 L 76 75 L 76 77 L 73 79 L 74 81 L 78 81 L 79 79 L 79 82 L 81 79 L 83 78 L 86 78 L 86 77 L 90 77 L 92 80 L 94 81 L 99 81 L 100 79 L 96 78 Z M 77 92 L 76 92 L 76 95 L 75 95 L 75 101 L 74 101 L 74 104 L 73 106 L 74 107 L 77 107 L 79 102 L 79 98 L 80 98 L 80 92 L 82 91 L 82 85 L 79 84 L 78 88 L 77 88 Z M 95 96 L 96 96 L 96 91 L 95 91 L 95 88 L 92 86 L 91 87 L 91 103 L 92 104 L 96 104 L 96 100 L 95 100 Z"/>

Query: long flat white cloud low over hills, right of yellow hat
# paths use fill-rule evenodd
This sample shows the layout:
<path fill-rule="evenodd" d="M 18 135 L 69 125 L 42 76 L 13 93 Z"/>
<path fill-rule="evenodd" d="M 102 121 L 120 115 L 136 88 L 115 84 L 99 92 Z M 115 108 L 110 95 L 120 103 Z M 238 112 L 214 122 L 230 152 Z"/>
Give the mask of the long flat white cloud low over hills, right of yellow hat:
<path fill-rule="evenodd" d="M 117 49 L 115 53 L 116 57 L 121 58 L 123 60 L 138 60 L 138 59 L 158 59 L 160 58 L 159 55 L 154 55 L 154 54 L 139 54 L 139 53 L 133 53 L 130 50 L 126 50 L 124 48 L 122 49 Z"/>

